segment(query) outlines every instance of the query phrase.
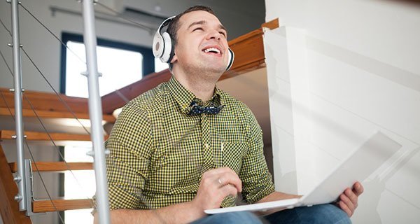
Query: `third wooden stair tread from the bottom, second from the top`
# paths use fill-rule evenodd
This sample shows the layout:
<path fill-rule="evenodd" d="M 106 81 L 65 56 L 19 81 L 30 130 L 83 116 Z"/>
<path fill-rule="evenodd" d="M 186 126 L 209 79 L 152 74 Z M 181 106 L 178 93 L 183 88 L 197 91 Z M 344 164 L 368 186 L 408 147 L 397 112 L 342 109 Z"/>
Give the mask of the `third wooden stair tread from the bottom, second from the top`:
<path fill-rule="evenodd" d="M 15 131 L 10 130 L 0 130 L 0 139 L 1 140 L 11 140 Z M 47 133 L 44 132 L 25 132 L 28 141 L 90 141 L 89 134 L 68 134 L 68 133 Z M 51 139 L 50 139 L 51 137 Z M 108 135 L 104 136 L 104 139 L 108 139 Z"/>

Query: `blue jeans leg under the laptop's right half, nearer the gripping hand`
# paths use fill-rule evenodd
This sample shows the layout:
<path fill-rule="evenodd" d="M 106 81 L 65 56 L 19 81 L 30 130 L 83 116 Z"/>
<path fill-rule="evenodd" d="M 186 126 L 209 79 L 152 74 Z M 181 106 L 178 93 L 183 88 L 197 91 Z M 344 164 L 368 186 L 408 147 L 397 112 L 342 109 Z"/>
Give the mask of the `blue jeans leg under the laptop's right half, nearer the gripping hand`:
<path fill-rule="evenodd" d="M 332 204 L 319 204 L 312 207 L 297 207 L 277 211 L 262 216 L 264 223 L 313 223 L 313 224 L 347 224 L 351 223 L 349 216 Z"/>

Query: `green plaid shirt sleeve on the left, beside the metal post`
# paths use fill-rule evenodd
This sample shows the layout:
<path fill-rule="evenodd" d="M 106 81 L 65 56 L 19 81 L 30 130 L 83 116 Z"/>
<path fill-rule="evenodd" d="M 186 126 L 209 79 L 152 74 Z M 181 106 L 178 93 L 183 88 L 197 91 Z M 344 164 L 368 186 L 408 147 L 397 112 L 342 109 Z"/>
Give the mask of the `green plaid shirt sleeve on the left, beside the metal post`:
<path fill-rule="evenodd" d="M 139 209 L 152 151 L 151 124 L 146 112 L 130 102 L 105 144 L 110 209 Z"/>

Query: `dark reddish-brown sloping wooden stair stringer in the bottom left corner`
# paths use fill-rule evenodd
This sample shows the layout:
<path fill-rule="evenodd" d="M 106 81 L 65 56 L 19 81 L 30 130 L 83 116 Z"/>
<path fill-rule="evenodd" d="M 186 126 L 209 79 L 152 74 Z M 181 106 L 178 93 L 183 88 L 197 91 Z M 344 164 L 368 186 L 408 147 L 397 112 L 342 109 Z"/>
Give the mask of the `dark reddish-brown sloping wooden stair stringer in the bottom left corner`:
<path fill-rule="evenodd" d="M 3 223 L 31 223 L 25 211 L 19 211 L 19 204 L 14 200 L 18 194 L 18 186 L 13 181 L 13 174 L 10 171 L 6 155 L 0 146 L 0 214 Z"/>

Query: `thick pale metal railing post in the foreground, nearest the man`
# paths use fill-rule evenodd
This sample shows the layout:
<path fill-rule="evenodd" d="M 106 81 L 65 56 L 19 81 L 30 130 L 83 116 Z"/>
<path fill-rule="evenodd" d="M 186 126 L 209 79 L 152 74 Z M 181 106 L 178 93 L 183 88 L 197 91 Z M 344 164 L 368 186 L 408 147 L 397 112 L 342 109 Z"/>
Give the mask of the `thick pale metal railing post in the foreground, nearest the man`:
<path fill-rule="evenodd" d="M 104 134 L 102 129 L 102 106 L 99 96 L 99 80 L 97 70 L 97 41 L 94 27 L 94 10 L 92 0 L 83 0 L 83 23 L 87 59 L 87 84 L 89 87 L 89 116 L 92 127 L 91 139 L 94 150 L 94 172 L 96 176 L 97 212 L 99 223 L 110 223 L 108 184 L 106 181 L 106 165 L 104 150 Z"/>

